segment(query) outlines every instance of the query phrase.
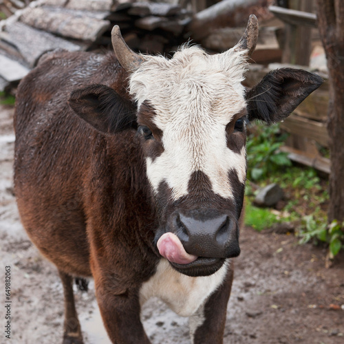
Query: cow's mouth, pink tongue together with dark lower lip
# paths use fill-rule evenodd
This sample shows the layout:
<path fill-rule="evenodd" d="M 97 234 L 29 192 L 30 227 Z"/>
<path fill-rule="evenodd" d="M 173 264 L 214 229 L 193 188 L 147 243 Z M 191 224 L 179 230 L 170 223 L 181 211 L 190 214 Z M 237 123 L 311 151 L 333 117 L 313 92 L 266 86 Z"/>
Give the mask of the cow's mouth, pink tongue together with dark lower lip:
<path fill-rule="evenodd" d="M 197 257 L 189 254 L 173 233 L 164 233 L 157 246 L 160 255 L 166 258 L 175 270 L 191 277 L 212 275 L 225 261 L 224 258 Z"/>

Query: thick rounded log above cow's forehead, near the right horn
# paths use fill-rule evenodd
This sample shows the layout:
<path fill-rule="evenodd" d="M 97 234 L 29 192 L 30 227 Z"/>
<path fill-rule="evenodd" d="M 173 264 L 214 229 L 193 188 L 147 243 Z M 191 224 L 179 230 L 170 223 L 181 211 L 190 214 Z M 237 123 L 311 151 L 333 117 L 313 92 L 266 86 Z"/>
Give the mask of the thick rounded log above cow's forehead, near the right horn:
<path fill-rule="evenodd" d="M 248 16 L 267 3 L 268 0 L 223 0 L 195 14 L 186 32 L 200 41 L 215 29 L 246 25 Z"/>

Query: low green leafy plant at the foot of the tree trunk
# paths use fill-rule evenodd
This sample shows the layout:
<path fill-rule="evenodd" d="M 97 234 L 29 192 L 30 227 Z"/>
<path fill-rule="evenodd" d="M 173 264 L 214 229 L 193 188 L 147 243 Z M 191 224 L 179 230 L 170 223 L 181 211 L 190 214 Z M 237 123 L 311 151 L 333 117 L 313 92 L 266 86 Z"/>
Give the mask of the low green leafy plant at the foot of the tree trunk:
<path fill-rule="evenodd" d="M 339 223 L 337 220 L 327 225 L 323 219 L 315 219 L 313 215 L 303 217 L 303 227 L 299 231 L 301 237 L 299 243 L 305 244 L 308 241 L 323 241 L 329 244 L 330 258 L 338 255 L 338 252 L 344 248 L 344 222 Z"/>

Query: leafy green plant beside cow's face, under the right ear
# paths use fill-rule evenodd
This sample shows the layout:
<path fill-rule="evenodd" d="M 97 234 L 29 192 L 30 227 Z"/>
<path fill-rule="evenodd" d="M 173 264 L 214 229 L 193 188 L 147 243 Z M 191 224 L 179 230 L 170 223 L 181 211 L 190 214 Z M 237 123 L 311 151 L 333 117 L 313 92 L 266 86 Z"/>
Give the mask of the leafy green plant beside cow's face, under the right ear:
<path fill-rule="evenodd" d="M 286 135 L 280 135 L 279 126 L 257 124 L 248 136 L 248 179 L 261 180 L 281 166 L 291 166 L 287 153 L 279 151 Z"/>

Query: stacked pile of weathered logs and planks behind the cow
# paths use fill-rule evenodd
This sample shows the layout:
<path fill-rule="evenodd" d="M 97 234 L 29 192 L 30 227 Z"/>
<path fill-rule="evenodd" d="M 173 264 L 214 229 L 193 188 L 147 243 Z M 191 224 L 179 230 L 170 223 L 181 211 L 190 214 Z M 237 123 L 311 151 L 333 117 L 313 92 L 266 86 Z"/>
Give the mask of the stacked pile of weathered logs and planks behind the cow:
<path fill-rule="evenodd" d="M 0 21 L 0 91 L 23 78 L 45 52 L 104 52 L 104 47 L 111 47 L 115 24 L 136 51 L 169 54 L 191 38 L 213 52 L 221 52 L 237 43 L 250 13 L 259 20 L 272 17 L 267 10 L 271 2 L 207 1 L 214 5 L 195 13 L 195 3 L 200 3 L 191 0 L 0 0 L 0 9 L 17 9 Z M 269 44 L 279 49 L 276 39 Z"/>

